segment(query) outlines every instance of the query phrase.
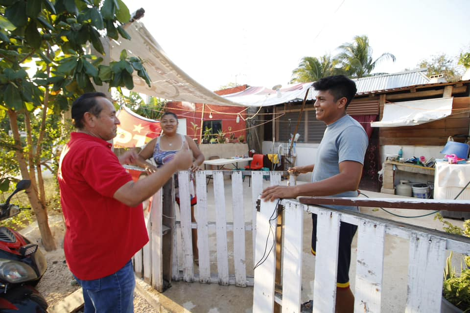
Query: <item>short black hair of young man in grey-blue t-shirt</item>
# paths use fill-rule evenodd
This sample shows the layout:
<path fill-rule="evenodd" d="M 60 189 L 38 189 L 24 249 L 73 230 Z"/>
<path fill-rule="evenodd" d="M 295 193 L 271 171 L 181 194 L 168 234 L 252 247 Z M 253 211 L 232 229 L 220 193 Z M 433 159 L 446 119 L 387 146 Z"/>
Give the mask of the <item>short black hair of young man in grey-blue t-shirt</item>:
<path fill-rule="evenodd" d="M 345 108 L 348 108 L 357 91 L 356 84 L 344 75 L 324 77 L 313 83 L 313 88 L 320 91 L 328 90 L 334 96 L 334 101 L 345 97 L 348 100 Z"/>

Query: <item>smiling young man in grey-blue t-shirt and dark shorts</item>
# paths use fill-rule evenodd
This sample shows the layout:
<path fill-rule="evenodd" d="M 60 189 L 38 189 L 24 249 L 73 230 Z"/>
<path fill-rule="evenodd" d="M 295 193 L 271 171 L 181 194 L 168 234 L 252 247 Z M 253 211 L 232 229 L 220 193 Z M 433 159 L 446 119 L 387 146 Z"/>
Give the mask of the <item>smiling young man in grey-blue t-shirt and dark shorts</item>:
<path fill-rule="evenodd" d="M 357 89 L 355 83 L 343 75 L 329 76 L 313 84 L 318 90 L 314 104 L 318 120 L 327 124 L 327 129 L 318 146 L 315 163 L 290 168 L 290 172 L 313 171 L 312 182 L 297 186 L 272 186 L 263 190 L 261 198 L 274 201 L 278 198 L 298 196 L 356 197 L 362 175 L 364 155 L 368 137 L 364 128 L 351 116 L 346 108 Z M 330 206 L 340 210 L 358 211 L 356 206 Z M 316 215 L 312 214 L 312 253 L 316 245 Z M 338 249 L 336 310 L 337 313 L 352 313 L 354 296 L 349 284 L 351 242 L 357 226 L 341 223 Z M 311 312 L 312 301 L 302 305 L 302 312 Z"/>

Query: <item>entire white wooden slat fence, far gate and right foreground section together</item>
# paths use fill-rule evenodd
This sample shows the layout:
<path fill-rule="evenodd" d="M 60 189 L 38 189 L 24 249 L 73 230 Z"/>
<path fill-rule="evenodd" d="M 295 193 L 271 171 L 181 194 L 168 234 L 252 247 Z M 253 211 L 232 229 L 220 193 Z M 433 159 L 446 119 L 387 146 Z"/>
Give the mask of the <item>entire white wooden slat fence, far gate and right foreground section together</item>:
<path fill-rule="evenodd" d="M 227 173 L 225 173 L 227 174 Z M 442 273 L 447 250 L 470 254 L 470 241 L 423 227 L 397 223 L 350 211 L 330 210 L 306 205 L 295 200 L 282 200 L 282 294 L 275 292 L 276 253 L 274 244 L 277 219 L 276 202 L 257 200 L 263 189 L 263 176 L 269 175 L 270 184 L 281 183 L 281 172 L 252 172 L 252 221 L 247 222 L 244 210 L 242 172 L 233 171 L 232 187 L 233 222 L 227 222 L 224 171 L 196 172 L 197 223 L 191 223 L 189 200 L 189 174 L 179 172 L 180 221 L 174 212 L 174 188 L 169 187 L 153 196 L 152 209 L 147 221 L 150 242 L 134 257 L 137 276 L 143 277 L 156 290 L 164 290 L 164 280 L 218 283 L 223 286 L 254 286 L 253 312 L 273 312 L 274 303 L 282 306 L 282 312 L 300 312 L 302 289 L 303 219 L 306 213 L 317 214 L 317 254 L 313 284 L 313 312 L 334 313 L 336 296 L 336 264 L 340 222 L 355 224 L 357 229 L 357 257 L 354 280 L 354 312 L 381 312 L 384 243 L 386 235 L 409 240 L 409 266 L 405 312 L 438 313 L 441 307 Z M 215 221 L 208 220 L 208 190 L 206 179 L 213 177 Z M 294 184 L 294 180 L 289 181 Z M 211 192 L 211 191 L 209 191 Z M 163 200 L 162 200 L 163 197 Z M 173 213 L 168 213 L 168 210 Z M 164 213 L 163 213 L 164 212 Z M 273 215 L 274 213 L 274 215 Z M 173 214 L 173 215 L 172 215 Z M 163 215 L 163 217 L 162 217 Z M 162 223 L 169 227 L 164 230 Z M 199 267 L 195 271 L 191 229 L 197 228 Z M 166 228 L 165 228 L 166 229 Z M 253 234 L 253 263 L 263 260 L 254 277 L 247 275 L 246 236 Z M 215 232 L 215 246 L 210 245 L 209 234 Z M 233 232 L 234 268 L 229 268 L 228 232 Z M 179 239 L 178 236 L 181 238 Z M 166 236 L 166 237 L 165 237 Z M 268 238 L 268 240 L 267 240 Z M 170 242 L 170 246 L 168 246 Z M 165 244 L 166 243 L 166 244 Z M 166 245 L 166 246 L 165 246 Z M 265 248 L 267 246 L 267 248 Z M 169 251 L 171 250 L 171 252 Z M 211 251 L 216 251 L 216 268 L 211 263 Z M 266 250 L 266 252 L 265 252 Z M 183 257 L 182 260 L 178 258 Z M 165 264 L 171 268 L 165 269 Z M 250 269 L 251 270 L 251 269 Z M 197 286 L 194 286 L 197 288 Z M 305 299 L 304 299 L 305 300 Z"/>

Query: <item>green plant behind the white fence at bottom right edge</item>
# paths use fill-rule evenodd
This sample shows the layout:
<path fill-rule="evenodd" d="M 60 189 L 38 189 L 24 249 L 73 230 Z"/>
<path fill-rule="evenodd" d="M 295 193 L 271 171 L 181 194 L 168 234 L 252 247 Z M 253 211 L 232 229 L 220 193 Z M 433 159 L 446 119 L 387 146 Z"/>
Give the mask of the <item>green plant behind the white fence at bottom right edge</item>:
<path fill-rule="evenodd" d="M 470 237 L 470 220 L 466 220 L 461 228 L 445 221 L 439 213 L 436 214 L 435 219 L 445 224 L 444 230 L 446 232 Z M 465 264 L 461 265 L 460 274 L 457 274 L 455 268 L 452 268 L 451 259 L 452 252 L 447 258 L 444 270 L 441 312 L 470 312 L 470 255 L 464 255 Z"/>

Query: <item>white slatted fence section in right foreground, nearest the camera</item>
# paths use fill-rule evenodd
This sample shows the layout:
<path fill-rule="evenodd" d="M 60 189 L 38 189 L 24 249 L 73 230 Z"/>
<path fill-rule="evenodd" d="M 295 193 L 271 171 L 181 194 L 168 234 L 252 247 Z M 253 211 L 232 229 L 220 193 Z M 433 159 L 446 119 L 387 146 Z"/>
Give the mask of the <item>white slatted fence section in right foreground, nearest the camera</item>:
<path fill-rule="evenodd" d="M 443 269 L 446 250 L 470 254 L 470 241 L 443 232 L 372 218 L 360 213 L 329 210 L 283 200 L 284 244 L 282 264 L 282 299 L 274 293 L 276 254 L 271 253 L 255 269 L 253 312 L 273 312 L 274 301 L 282 305 L 282 312 L 300 312 L 302 279 L 302 214 L 317 214 L 317 253 L 313 288 L 313 312 L 334 313 L 336 296 L 336 251 L 340 222 L 358 226 L 357 264 L 354 288 L 354 312 L 381 312 L 383 284 L 383 257 L 385 234 L 408 239 L 409 267 L 406 313 L 439 313 L 443 287 Z M 257 219 L 257 253 L 264 248 L 270 231 L 269 217 L 276 210 L 276 202 L 261 201 Z"/>

